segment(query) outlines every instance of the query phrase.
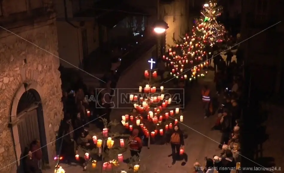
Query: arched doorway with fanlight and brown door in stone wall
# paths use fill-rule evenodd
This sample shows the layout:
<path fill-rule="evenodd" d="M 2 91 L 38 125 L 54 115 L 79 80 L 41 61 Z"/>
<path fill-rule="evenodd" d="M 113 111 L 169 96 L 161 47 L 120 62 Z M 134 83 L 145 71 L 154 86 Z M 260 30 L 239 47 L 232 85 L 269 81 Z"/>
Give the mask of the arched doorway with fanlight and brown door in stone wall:
<path fill-rule="evenodd" d="M 18 139 L 14 139 L 14 141 L 19 141 L 21 156 L 23 156 L 25 148 L 29 148 L 31 142 L 38 139 L 41 147 L 43 147 L 41 148 L 43 153 L 42 161 L 43 163 L 48 163 L 43 107 L 40 94 L 36 89 L 25 89 L 20 98 L 15 99 L 18 99 L 18 103 L 12 126 L 16 127 L 13 128 L 13 130 L 16 130 L 13 133 L 17 133 Z"/>

